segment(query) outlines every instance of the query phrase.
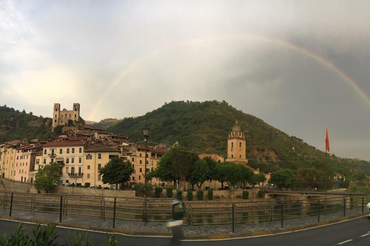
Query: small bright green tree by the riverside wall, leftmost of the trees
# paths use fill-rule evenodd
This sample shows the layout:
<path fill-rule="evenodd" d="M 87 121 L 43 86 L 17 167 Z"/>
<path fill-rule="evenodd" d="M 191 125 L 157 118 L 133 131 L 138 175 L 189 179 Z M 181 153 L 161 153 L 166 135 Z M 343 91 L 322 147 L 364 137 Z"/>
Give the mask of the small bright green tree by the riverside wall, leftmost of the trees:
<path fill-rule="evenodd" d="M 40 166 L 35 175 L 34 185 L 36 189 L 45 190 L 47 193 L 48 189 L 58 185 L 60 173 L 61 170 L 57 163 Z"/>

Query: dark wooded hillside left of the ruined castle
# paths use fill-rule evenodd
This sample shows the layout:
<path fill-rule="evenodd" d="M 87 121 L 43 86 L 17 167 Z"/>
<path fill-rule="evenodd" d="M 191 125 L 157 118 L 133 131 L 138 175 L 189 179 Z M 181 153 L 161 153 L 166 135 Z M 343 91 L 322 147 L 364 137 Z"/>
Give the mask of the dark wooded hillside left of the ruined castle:
<path fill-rule="evenodd" d="M 0 106 L 0 143 L 13 139 L 51 137 L 51 119 Z"/>

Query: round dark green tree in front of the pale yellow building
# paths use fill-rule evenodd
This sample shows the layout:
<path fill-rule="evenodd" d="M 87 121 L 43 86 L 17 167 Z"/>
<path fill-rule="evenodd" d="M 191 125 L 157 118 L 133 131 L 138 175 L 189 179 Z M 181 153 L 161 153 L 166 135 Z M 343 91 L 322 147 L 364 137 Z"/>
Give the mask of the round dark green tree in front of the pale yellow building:
<path fill-rule="evenodd" d="M 123 161 L 119 157 L 110 159 L 110 161 L 99 169 L 102 175 L 103 183 L 115 184 L 116 189 L 119 183 L 130 181 L 130 175 L 134 172 L 131 162 Z"/>

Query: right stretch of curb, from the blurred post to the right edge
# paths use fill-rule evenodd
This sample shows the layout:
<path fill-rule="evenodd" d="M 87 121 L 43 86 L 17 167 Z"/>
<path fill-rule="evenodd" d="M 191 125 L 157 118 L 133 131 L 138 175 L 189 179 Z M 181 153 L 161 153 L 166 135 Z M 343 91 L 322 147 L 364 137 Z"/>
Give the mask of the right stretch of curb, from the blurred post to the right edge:
<path fill-rule="evenodd" d="M 255 237 L 255 236 L 266 236 L 274 235 L 279 233 L 294 232 L 297 230 L 311 229 L 318 226 L 326 226 L 337 222 L 342 222 L 350 219 L 356 219 L 368 215 L 368 213 L 360 213 L 358 215 L 351 215 L 347 217 L 342 217 L 339 219 L 328 220 L 323 222 L 317 222 L 310 225 L 295 226 L 289 228 L 282 228 L 276 230 L 264 230 L 260 232 L 242 232 L 242 233 L 233 233 L 233 234 L 222 234 L 222 235 L 194 235 L 194 236 L 184 236 L 182 240 L 217 240 L 217 239 L 233 239 L 241 237 Z"/>

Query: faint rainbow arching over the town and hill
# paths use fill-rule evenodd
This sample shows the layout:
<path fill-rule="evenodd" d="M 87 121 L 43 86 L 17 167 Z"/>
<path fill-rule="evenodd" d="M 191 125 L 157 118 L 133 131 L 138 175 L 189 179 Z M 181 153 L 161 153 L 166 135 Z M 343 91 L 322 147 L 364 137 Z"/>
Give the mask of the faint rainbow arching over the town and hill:
<path fill-rule="evenodd" d="M 351 79 L 348 75 L 346 75 L 343 71 L 341 71 L 339 68 L 336 67 L 331 61 L 323 58 L 322 56 L 307 50 L 306 48 L 297 46 L 296 44 L 290 43 L 286 40 L 278 39 L 278 38 L 272 38 L 268 36 L 262 36 L 258 34 L 222 34 L 222 35 L 211 35 L 211 36 L 202 36 L 198 38 L 194 38 L 191 40 L 187 40 L 184 42 L 178 42 L 178 43 L 169 43 L 163 46 L 160 46 L 156 48 L 155 50 L 149 52 L 148 54 L 143 55 L 142 57 L 137 58 L 132 63 L 130 63 L 128 66 L 126 66 L 121 73 L 113 80 L 112 82 L 108 83 L 107 89 L 104 91 L 104 93 L 101 95 L 101 97 L 95 102 L 94 107 L 92 108 L 92 111 L 88 117 L 88 119 L 92 119 L 95 115 L 95 111 L 99 108 L 100 104 L 102 103 L 103 99 L 106 98 L 112 89 L 116 87 L 120 82 L 138 65 L 143 63 L 144 61 L 148 60 L 151 57 L 155 57 L 155 55 L 167 51 L 175 46 L 189 46 L 189 45 L 196 45 L 199 43 L 205 43 L 209 41 L 215 41 L 215 40 L 255 40 L 255 41 L 261 41 L 265 43 L 270 43 L 282 47 L 289 48 L 291 50 L 295 50 L 303 55 L 306 55 L 307 57 L 312 58 L 313 60 L 317 61 L 318 63 L 324 65 L 325 67 L 329 68 L 330 70 L 334 71 L 339 77 L 341 77 L 344 81 L 346 81 L 353 90 L 359 94 L 363 100 L 365 100 L 370 105 L 370 98 L 369 95 L 367 95 L 360 86 Z"/>

